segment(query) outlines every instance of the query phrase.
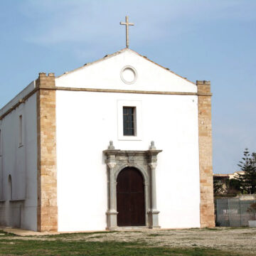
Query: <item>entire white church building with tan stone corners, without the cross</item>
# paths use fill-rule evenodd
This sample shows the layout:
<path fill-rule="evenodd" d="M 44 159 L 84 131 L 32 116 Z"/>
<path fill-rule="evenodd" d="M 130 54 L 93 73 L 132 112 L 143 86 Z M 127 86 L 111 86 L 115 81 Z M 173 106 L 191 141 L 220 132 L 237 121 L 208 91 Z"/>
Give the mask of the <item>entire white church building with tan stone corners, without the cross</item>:
<path fill-rule="evenodd" d="M 129 48 L 40 73 L 0 110 L 0 225 L 214 226 L 210 97 Z"/>

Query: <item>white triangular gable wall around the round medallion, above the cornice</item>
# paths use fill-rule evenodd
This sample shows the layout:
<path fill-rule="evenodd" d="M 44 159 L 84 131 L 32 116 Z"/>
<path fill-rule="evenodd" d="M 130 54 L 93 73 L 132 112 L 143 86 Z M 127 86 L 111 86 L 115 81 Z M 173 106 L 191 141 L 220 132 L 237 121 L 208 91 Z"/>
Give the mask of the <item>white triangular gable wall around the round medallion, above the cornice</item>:
<path fill-rule="evenodd" d="M 120 72 L 126 65 L 132 65 L 137 70 L 137 81 L 126 85 L 120 79 Z M 115 90 L 149 90 L 161 92 L 196 92 L 193 82 L 159 67 L 149 60 L 125 49 L 110 58 L 105 58 L 92 65 L 74 70 L 56 79 L 56 86 L 100 88 Z"/>

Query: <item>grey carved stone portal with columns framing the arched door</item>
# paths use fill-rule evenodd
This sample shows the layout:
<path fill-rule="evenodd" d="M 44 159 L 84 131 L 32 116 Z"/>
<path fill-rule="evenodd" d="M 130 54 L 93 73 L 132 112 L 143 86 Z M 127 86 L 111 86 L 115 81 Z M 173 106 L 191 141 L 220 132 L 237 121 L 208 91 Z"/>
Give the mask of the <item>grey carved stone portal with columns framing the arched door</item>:
<path fill-rule="evenodd" d="M 108 149 L 103 151 L 107 156 L 107 230 L 116 230 L 117 226 L 117 176 L 122 169 L 134 167 L 141 171 L 144 178 L 145 194 L 145 219 L 146 227 L 160 228 L 156 209 L 156 165 L 157 154 L 154 142 L 151 142 L 149 150 L 120 150 L 114 149 L 110 141 Z M 122 227 L 121 227 L 122 228 Z"/>

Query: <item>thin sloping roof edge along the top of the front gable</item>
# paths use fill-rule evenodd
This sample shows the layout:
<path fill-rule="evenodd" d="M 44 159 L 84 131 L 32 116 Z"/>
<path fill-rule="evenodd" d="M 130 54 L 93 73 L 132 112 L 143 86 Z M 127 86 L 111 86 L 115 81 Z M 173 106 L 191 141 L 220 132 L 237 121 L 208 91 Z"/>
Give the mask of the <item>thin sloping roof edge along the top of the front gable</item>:
<path fill-rule="evenodd" d="M 122 50 L 119 50 L 119 51 L 117 51 L 116 53 L 107 54 L 107 55 L 105 55 L 103 58 L 100 58 L 99 60 L 92 61 L 92 63 L 86 63 L 85 65 L 83 65 L 83 66 L 80 67 L 80 68 L 75 68 L 75 70 L 67 71 L 67 72 L 63 73 L 62 75 L 57 76 L 56 78 L 60 78 L 60 77 L 62 77 L 63 75 L 68 75 L 68 74 L 73 73 L 73 72 L 75 72 L 75 71 L 77 71 L 77 70 L 80 70 L 80 69 L 82 69 L 82 68 L 87 68 L 87 67 L 89 67 L 90 65 L 94 65 L 94 64 L 99 63 L 99 62 L 101 62 L 101 61 L 103 61 L 103 60 L 107 60 L 107 59 L 109 59 L 109 58 L 112 58 L 112 57 L 114 57 L 114 56 L 116 56 L 116 55 L 119 55 L 120 53 L 123 53 L 124 51 L 127 51 L 127 50 L 128 50 L 128 51 L 131 51 L 132 53 L 135 53 L 135 54 L 139 55 L 140 57 L 142 57 L 142 58 L 144 58 L 144 59 L 150 61 L 151 63 L 154 63 L 154 65 L 157 65 L 157 66 L 159 66 L 160 68 L 164 68 L 162 65 L 159 65 L 158 63 L 155 63 L 153 60 L 150 60 L 150 59 L 147 58 L 146 56 L 143 56 L 143 55 L 137 53 L 135 50 L 131 50 L 131 49 L 129 49 L 129 48 L 123 48 Z M 174 74 L 174 75 L 177 75 L 179 78 L 182 78 L 182 79 L 186 80 L 187 82 L 191 82 L 191 83 L 193 83 L 194 85 L 196 85 L 195 82 L 192 82 L 192 81 L 188 80 L 187 78 L 183 78 L 183 76 L 176 74 L 174 71 L 169 70 L 169 68 L 164 68 L 164 70 L 169 71 L 170 73 L 172 73 L 172 74 Z"/>

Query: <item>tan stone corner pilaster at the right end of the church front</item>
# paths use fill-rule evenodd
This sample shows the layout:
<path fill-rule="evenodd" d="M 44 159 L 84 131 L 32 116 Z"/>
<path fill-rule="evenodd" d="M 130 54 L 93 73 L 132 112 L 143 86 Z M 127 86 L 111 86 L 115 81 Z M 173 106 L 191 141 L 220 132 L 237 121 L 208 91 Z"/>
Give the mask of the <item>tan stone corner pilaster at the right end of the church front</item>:
<path fill-rule="evenodd" d="M 210 82 L 196 81 L 196 85 L 198 87 L 200 219 L 201 228 L 209 228 L 215 226 Z"/>

